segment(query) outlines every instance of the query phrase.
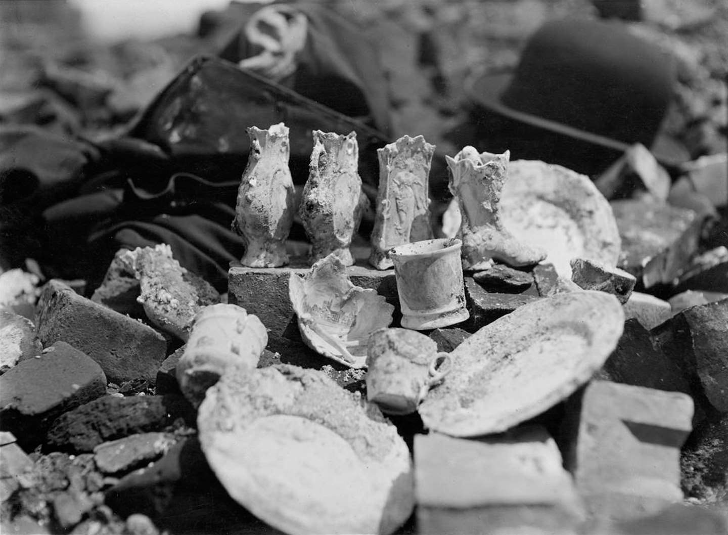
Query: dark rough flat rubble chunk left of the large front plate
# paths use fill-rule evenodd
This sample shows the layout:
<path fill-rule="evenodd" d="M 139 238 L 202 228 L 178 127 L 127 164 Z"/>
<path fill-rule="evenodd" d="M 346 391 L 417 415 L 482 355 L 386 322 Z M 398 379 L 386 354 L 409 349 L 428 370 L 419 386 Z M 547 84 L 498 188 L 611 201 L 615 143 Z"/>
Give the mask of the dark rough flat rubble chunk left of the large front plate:
<path fill-rule="evenodd" d="M 181 420 L 195 427 L 197 413 L 181 395 L 104 396 L 67 412 L 53 422 L 47 445 L 84 453 L 107 440 L 159 431 Z"/>

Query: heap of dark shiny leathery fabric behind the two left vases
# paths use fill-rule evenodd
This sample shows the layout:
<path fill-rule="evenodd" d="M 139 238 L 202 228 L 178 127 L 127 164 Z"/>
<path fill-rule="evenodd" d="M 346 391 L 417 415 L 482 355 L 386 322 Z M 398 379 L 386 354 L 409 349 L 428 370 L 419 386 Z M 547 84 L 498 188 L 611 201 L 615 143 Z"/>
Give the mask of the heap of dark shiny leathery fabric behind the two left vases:
<path fill-rule="evenodd" d="M 82 277 L 93 290 L 120 247 L 165 242 L 182 266 L 226 290 L 229 263 L 244 252 L 230 224 L 250 126 L 290 128 L 298 184 L 308 176 L 312 130 L 355 130 L 360 173 L 367 191 L 376 191 L 376 148 L 387 138 L 374 126 L 388 126 L 376 54 L 325 7 L 295 5 L 309 17 L 309 39 L 286 85 L 199 56 L 113 138 L 92 143 L 38 127 L 0 130 L 1 265 L 30 256 L 50 277 Z M 230 60 L 253 53 L 241 38 L 245 9 L 253 8 L 234 9 L 237 18 L 223 21 L 218 36 Z M 347 98 L 339 98 L 342 91 Z"/>

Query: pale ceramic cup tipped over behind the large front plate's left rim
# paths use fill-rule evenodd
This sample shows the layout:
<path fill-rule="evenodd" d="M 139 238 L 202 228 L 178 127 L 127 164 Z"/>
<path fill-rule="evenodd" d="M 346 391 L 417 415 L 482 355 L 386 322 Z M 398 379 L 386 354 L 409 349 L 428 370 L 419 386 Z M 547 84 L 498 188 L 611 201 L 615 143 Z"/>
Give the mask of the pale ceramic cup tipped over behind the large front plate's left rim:
<path fill-rule="evenodd" d="M 268 332 L 256 315 L 233 304 L 205 306 L 194 319 L 177 364 L 175 373 L 182 393 L 190 403 L 199 405 L 225 370 L 234 366 L 256 368 L 267 344 Z"/>

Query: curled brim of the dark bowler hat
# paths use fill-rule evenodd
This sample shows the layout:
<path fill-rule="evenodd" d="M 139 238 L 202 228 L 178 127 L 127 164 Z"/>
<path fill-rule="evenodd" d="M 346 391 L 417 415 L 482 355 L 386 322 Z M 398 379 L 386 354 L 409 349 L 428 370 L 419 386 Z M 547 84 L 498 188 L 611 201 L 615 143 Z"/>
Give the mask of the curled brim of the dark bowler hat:
<path fill-rule="evenodd" d="M 511 79 L 513 79 L 513 73 L 470 76 L 465 82 L 465 93 L 470 100 L 479 106 L 483 106 L 483 108 L 514 119 L 515 121 L 531 124 L 531 126 L 557 132 L 571 138 L 577 138 L 587 143 L 612 148 L 614 151 L 620 153 L 630 147 L 630 143 L 625 143 L 624 141 L 606 138 L 603 135 L 587 132 L 586 130 L 579 130 L 567 124 L 526 114 L 523 111 L 505 106 L 501 101 L 501 95 L 509 86 Z M 662 133 L 657 135 L 654 143 L 650 147 L 650 151 L 654 154 L 658 162 L 668 167 L 677 167 L 690 159 L 687 149 L 684 146 Z"/>

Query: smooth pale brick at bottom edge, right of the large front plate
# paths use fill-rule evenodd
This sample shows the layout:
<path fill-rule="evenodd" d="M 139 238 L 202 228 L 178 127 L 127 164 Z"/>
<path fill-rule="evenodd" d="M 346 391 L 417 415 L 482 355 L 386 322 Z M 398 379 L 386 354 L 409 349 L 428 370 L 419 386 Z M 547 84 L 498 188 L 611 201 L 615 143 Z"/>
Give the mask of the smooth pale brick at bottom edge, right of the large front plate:
<path fill-rule="evenodd" d="M 540 427 L 480 440 L 415 435 L 414 460 L 419 533 L 570 533 L 583 518 Z"/>

